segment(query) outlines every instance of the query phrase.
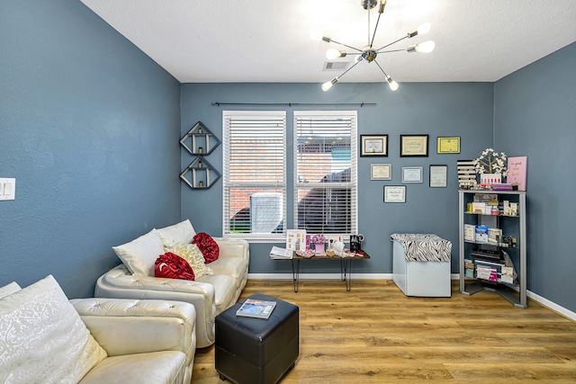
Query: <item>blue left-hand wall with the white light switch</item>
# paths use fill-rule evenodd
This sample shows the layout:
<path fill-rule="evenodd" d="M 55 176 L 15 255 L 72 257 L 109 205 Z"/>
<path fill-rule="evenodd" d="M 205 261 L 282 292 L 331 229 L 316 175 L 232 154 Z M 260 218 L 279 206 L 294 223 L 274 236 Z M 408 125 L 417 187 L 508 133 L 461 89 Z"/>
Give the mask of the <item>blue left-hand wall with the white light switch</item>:
<path fill-rule="evenodd" d="M 180 218 L 180 85 L 79 1 L 0 2 L 0 285 L 92 296 L 119 245 Z"/>

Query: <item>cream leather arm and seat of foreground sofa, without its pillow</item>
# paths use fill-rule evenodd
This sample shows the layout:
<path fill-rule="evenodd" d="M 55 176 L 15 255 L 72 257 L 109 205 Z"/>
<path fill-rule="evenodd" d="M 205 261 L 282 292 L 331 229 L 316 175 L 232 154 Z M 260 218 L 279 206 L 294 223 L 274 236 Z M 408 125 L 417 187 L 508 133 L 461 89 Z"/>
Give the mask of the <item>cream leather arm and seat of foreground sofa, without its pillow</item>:
<path fill-rule="evenodd" d="M 192 305 L 179 301 L 98 298 L 70 302 L 90 334 L 108 353 L 81 384 L 190 383 L 196 352 L 196 314 Z"/>

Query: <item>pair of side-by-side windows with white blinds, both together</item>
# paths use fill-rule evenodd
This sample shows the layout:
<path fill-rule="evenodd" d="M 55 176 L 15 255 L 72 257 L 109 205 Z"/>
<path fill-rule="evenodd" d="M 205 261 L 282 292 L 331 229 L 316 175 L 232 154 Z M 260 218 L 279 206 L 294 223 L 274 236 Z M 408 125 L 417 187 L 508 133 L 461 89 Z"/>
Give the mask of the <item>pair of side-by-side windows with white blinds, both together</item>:
<path fill-rule="evenodd" d="M 277 240 L 286 228 L 343 237 L 358 232 L 356 111 L 293 117 L 288 148 L 286 112 L 223 112 L 224 236 Z M 288 186 L 293 220 L 287 223 Z"/>

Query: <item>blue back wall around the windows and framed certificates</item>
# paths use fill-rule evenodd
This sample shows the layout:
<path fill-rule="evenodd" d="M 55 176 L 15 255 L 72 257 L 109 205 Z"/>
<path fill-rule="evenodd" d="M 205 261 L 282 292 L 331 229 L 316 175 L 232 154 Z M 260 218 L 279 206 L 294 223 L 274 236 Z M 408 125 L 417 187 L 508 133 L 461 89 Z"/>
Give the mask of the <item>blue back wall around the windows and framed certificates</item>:
<path fill-rule="evenodd" d="M 377 103 L 376 106 L 213 106 L 227 103 Z M 304 109 L 356 109 L 358 134 L 388 134 L 388 157 L 359 157 L 358 219 L 366 237 L 364 249 L 372 259 L 356 263 L 355 272 L 392 272 L 390 235 L 397 232 L 436 233 L 454 244 L 452 271 L 457 272 L 458 184 L 456 160 L 472 159 L 492 145 L 493 85 L 486 83 L 401 84 L 392 93 L 383 84 L 338 84 L 328 93 L 319 84 L 184 84 L 182 85 L 182 130 L 184 135 L 196 121 L 202 121 L 222 137 L 224 110 L 278 110 L 287 113 L 288 143 L 292 148 L 293 111 Z M 401 134 L 428 134 L 428 157 L 400 157 Z M 437 155 L 438 136 L 460 136 L 462 153 Z M 292 149 L 290 149 L 292 150 Z M 182 151 L 182 168 L 193 156 Z M 222 169 L 218 147 L 206 159 Z M 371 181 L 372 163 L 392 164 L 392 181 Z M 447 188 L 429 188 L 429 165 L 448 165 Z M 401 185 L 402 166 L 422 166 L 424 183 L 406 184 L 406 203 L 383 203 L 383 185 Z M 293 174 L 292 158 L 287 174 Z M 222 183 L 209 190 L 191 190 L 182 184 L 182 216 L 197 231 L 221 234 Z M 291 199 L 292 196 L 289 196 Z M 292 200 L 288 201 L 292 206 Z M 289 218 L 289 226 L 291 219 Z M 251 273 L 291 272 L 290 263 L 269 257 L 271 244 L 250 245 Z M 277 246 L 284 246 L 278 244 Z M 339 264 L 313 263 L 304 272 L 339 272 Z"/>

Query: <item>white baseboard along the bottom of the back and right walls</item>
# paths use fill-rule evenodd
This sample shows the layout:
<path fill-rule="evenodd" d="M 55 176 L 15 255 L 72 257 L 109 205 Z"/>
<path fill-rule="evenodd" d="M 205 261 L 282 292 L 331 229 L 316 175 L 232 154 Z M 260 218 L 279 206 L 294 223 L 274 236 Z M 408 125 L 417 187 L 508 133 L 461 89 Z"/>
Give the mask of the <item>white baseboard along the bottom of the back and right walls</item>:
<path fill-rule="evenodd" d="M 338 280 L 341 278 L 340 273 L 301 273 L 300 280 Z M 458 273 L 452 273 L 450 279 L 458 280 L 460 275 Z M 293 280 L 292 273 L 248 273 L 248 279 L 255 280 Z M 392 273 L 355 273 L 353 280 L 392 280 Z M 545 299 L 542 296 L 536 295 L 536 293 L 527 290 L 527 297 L 535 300 L 539 304 L 558 312 L 564 317 L 568 317 L 573 321 L 576 321 L 576 313 L 572 312 L 567 308 L 563 308 L 558 304 Z"/>

